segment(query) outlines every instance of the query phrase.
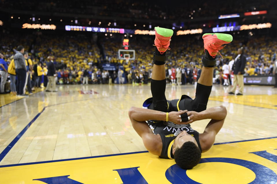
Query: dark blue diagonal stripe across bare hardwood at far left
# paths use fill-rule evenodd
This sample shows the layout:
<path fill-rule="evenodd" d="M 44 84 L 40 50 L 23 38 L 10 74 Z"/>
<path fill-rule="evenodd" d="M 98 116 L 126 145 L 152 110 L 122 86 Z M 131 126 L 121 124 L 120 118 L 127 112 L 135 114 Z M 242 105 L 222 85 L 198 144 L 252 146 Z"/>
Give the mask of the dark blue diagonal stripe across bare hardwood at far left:
<path fill-rule="evenodd" d="M 7 155 L 7 153 L 12 149 L 12 147 L 17 143 L 21 136 L 28 130 L 28 128 L 36 121 L 40 114 L 44 111 L 45 107 L 40 113 L 38 113 L 26 126 L 21 130 L 21 132 L 12 140 L 12 142 L 0 153 L 0 162 Z"/>

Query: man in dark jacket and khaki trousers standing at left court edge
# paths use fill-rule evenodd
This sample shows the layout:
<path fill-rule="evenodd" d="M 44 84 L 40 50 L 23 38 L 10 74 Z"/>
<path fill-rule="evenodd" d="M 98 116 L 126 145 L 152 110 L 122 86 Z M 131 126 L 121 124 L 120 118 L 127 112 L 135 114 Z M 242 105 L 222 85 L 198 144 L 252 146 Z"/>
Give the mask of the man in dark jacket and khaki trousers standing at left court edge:
<path fill-rule="evenodd" d="M 47 91 L 47 92 L 51 92 L 51 91 L 52 92 L 57 92 L 56 91 L 56 81 L 55 81 L 56 69 L 55 69 L 55 65 L 53 63 L 53 57 L 48 56 L 47 59 L 49 60 L 49 62 L 47 63 L 47 68 L 48 68 L 48 73 L 47 73 L 48 83 L 47 83 L 47 87 L 46 87 L 45 91 Z"/>

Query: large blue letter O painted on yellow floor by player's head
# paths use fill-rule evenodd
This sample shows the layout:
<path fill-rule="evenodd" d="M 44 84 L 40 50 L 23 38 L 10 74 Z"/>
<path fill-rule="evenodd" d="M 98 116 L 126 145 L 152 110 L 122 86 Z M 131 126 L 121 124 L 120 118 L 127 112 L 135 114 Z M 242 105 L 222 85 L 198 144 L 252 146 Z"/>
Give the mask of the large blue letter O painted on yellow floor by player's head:
<path fill-rule="evenodd" d="M 256 178 L 249 184 L 276 184 L 277 182 L 277 175 L 273 170 L 255 162 L 236 158 L 202 158 L 199 164 L 206 162 L 225 162 L 230 164 L 237 164 L 239 166 L 243 166 L 252 170 L 256 174 Z M 187 176 L 186 171 L 187 170 L 184 170 L 177 166 L 177 164 L 174 164 L 166 170 L 166 178 L 173 184 L 202 184 L 190 179 Z"/>

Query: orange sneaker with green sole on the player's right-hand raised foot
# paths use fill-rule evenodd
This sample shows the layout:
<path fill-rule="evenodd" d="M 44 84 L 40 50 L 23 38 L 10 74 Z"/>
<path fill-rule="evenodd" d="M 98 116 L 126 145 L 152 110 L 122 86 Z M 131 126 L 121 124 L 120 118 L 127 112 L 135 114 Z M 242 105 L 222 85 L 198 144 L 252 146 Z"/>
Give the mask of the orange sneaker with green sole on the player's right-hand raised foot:
<path fill-rule="evenodd" d="M 232 35 L 224 33 L 206 33 L 202 38 L 204 40 L 204 52 L 207 50 L 213 58 L 215 58 L 219 50 L 223 49 L 226 44 L 233 40 Z"/>

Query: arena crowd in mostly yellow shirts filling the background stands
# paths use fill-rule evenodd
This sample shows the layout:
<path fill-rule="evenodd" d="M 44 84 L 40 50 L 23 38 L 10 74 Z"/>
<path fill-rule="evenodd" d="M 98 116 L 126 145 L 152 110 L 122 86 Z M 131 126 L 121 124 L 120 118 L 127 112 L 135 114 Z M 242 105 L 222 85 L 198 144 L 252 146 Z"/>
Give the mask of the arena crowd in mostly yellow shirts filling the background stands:
<path fill-rule="evenodd" d="M 243 40 L 241 42 L 240 40 Z M 8 67 L 18 45 L 24 45 L 26 66 L 29 67 L 29 93 L 35 87 L 47 86 L 47 65 L 53 62 L 55 66 L 56 84 L 111 84 L 133 83 L 147 84 L 151 76 L 153 57 L 153 37 L 134 36 L 130 38 L 129 49 L 135 50 L 135 60 L 118 59 L 118 49 L 122 48 L 122 35 L 114 37 L 77 37 L 65 35 L 5 35 L 1 42 L 1 63 Z M 194 84 L 201 73 L 201 58 L 203 54 L 200 35 L 174 36 L 168 52 L 167 79 L 173 84 Z M 234 60 L 237 48 L 243 47 L 247 64 L 244 75 L 270 75 L 273 61 L 276 60 L 277 42 L 271 37 L 256 37 L 249 40 L 235 39 L 217 56 L 214 73 L 214 83 L 224 84 L 222 68 Z M 102 50 L 102 51 L 101 51 Z M 102 54 L 100 54 L 102 53 Z M 26 55 L 27 54 L 27 55 Z M 116 71 L 103 70 L 103 64 L 115 66 Z M 30 67 L 29 65 L 32 65 Z M 3 65 L 4 66 L 4 65 Z M 1 65 L 1 71 L 5 71 Z M 231 74 L 231 66 L 228 68 Z M 8 71 L 8 69 L 6 69 Z M 8 72 L 10 73 L 10 72 Z M 12 73 L 10 73 L 10 76 Z M 4 75 L 3 75 L 4 76 Z M 7 80 L 1 77 L 1 92 L 12 90 L 11 77 Z M 17 79 L 18 80 L 18 79 Z M 6 90 L 3 91 L 3 85 Z M 26 86 L 26 85 L 25 85 Z M 32 89 L 32 90 L 30 90 Z M 14 90 L 12 91 L 14 94 Z"/>

